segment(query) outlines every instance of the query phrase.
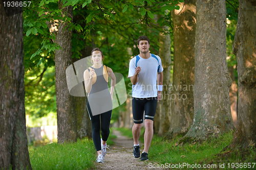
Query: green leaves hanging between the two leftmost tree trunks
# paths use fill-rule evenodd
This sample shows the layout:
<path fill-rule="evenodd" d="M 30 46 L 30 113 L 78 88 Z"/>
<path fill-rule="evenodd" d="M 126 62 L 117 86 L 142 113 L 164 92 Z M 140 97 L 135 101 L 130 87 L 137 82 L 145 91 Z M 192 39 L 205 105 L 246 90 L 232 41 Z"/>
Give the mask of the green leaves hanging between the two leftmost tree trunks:
<path fill-rule="evenodd" d="M 52 51 L 60 47 L 52 41 L 55 36 L 50 34 L 46 24 L 50 18 L 45 15 L 46 10 L 38 7 L 38 3 L 38 1 L 32 2 L 31 6 L 24 8 L 23 11 L 24 34 L 26 35 L 24 37 L 25 70 L 39 66 L 41 63 L 52 66 L 54 62 L 45 57 L 52 56 Z"/>

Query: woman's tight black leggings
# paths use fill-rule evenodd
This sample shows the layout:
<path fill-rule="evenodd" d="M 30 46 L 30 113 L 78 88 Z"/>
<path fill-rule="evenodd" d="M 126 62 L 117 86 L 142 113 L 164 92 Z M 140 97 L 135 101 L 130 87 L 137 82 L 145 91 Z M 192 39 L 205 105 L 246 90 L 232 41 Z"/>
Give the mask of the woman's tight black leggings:
<path fill-rule="evenodd" d="M 88 101 L 87 101 L 87 109 L 88 109 L 88 112 L 89 112 L 89 115 L 90 115 L 90 118 L 91 118 L 91 122 L 92 122 L 93 143 L 95 145 L 96 151 L 100 151 L 101 150 L 100 124 L 101 124 L 102 140 L 106 141 L 106 140 L 108 140 L 108 137 L 109 137 L 109 134 L 110 134 L 110 120 L 111 120 L 112 110 L 106 111 L 106 112 L 101 113 L 101 114 L 96 114 L 96 115 L 93 116 L 92 115 L 92 110 L 90 108 L 90 105 L 89 105 Z"/>

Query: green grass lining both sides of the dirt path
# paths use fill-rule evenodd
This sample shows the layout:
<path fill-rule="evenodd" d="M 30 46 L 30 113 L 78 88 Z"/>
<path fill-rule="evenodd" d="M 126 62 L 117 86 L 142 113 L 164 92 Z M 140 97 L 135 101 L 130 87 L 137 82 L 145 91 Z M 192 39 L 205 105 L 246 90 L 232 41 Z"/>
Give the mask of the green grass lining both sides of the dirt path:
<path fill-rule="evenodd" d="M 130 129 L 114 129 L 121 131 L 127 137 L 132 137 Z M 110 145 L 114 144 L 112 139 L 116 138 L 115 135 L 112 135 L 112 130 L 110 129 L 111 133 L 107 141 Z M 140 142 L 143 142 L 143 133 L 144 129 L 141 130 Z M 248 166 L 250 163 L 251 168 L 247 169 L 256 169 L 256 164 L 253 164 L 256 163 L 255 148 L 237 153 L 230 150 L 223 152 L 223 148 L 232 141 L 232 132 L 223 134 L 218 138 L 177 145 L 176 143 L 180 138 L 181 136 L 172 140 L 165 140 L 163 137 L 154 135 L 148 152 L 148 158 L 154 164 L 148 164 L 148 167 L 172 168 L 178 165 L 177 168 L 172 169 L 244 169 L 245 165 Z M 97 154 L 92 140 L 78 139 L 76 143 L 64 144 L 41 142 L 43 146 L 39 147 L 35 147 L 36 144 L 39 145 L 34 142 L 34 145 L 29 147 L 33 169 L 95 168 L 94 162 Z M 186 166 L 181 167 L 179 164 L 186 164 Z M 189 167 L 188 164 L 191 168 L 187 168 Z M 198 168 L 199 164 L 201 168 Z M 209 167 L 202 168 L 204 164 Z"/>

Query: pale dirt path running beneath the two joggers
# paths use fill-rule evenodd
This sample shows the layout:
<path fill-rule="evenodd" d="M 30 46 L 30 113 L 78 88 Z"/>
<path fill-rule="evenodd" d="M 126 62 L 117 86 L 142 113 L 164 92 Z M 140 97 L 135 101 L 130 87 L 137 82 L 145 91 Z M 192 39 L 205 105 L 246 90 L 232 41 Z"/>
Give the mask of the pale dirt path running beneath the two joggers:
<path fill-rule="evenodd" d="M 140 161 L 140 158 L 133 157 L 133 139 L 122 136 L 119 131 L 113 130 L 117 136 L 113 141 L 114 145 L 107 149 L 104 163 L 96 163 L 97 169 L 152 169 L 148 167 L 151 161 Z M 108 144 L 108 143 L 107 143 Z M 141 151 L 143 149 L 142 143 Z M 153 163 L 153 162 L 152 162 Z M 155 168 L 156 169 L 156 168 Z"/>

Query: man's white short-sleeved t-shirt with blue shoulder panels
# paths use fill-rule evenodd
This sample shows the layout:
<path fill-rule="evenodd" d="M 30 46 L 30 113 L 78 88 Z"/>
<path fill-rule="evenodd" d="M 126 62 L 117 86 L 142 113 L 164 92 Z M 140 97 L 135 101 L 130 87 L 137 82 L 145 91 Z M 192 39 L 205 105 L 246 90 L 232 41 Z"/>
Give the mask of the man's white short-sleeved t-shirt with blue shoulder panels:
<path fill-rule="evenodd" d="M 141 58 L 137 62 L 137 67 L 140 66 L 139 81 L 133 85 L 132 96 L 134 98 L 152 98 L 157 96 L 157 72 L 162 72 L 162 62 L 159 56 L 155 55 L 158 59 L 150 54 L 150 58 Z M 159 70 L 158 70 L 159 66 Z M 128 77 L 131 78 L 135 74 L 136 57 L 132 58 L 129 65 Z"/>

